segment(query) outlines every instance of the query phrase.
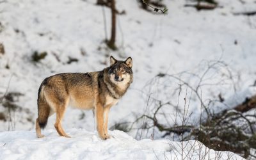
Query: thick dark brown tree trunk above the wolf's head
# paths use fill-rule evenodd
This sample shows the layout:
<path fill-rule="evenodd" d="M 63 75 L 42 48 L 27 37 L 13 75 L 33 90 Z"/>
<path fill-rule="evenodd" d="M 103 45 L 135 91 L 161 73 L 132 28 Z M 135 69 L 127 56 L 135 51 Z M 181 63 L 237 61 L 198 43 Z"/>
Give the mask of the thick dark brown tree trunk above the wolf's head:
<path fill-rule="evenodd" d="M 111 38 L 108 42 L 108 47 L 116 50 L 116 12 L 115 12 L 115 0 L 111 0 L 111 13 L 112 13 L 112 26 L 111 26 Z"/>

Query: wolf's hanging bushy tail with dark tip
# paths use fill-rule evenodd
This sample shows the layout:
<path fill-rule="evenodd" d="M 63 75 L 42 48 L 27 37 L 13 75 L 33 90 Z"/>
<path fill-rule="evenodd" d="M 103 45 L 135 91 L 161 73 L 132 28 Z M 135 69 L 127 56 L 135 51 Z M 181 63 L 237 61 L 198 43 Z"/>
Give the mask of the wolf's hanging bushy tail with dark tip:
<path fill-rule="evenodd" d="M 51 108 L 49 106 L 49 104 L 47 103 L 46 99 L 45 99 L 45 95 L 44 95 L 44 86 L 46 83 L 45 79 L 43 81 L 43 83 L 41 84 L 39 90 L 38 90 L 38 99 L 37 99 L 37 109 L 38 109 L 38 124 L 40 126 L 40 128 L 44 129 L 47 121 L 48 121 L 48 117 L 51 111 Z"/>

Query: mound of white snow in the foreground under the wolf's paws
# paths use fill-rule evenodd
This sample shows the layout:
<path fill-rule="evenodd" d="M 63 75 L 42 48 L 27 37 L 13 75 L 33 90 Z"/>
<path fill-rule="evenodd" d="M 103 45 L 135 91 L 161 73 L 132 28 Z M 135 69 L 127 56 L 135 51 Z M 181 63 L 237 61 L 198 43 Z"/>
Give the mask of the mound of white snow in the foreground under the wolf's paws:
<path fill-rule="evenodd" d="M 110 131 L 113 138 L 103 141 L 95 132 L 68 129 L 72 138 L 56 131 L 44 132 L 38 139 L 34 131 L 0 133 L 0 159 L 243 159 L 232 152 L 216 152 L 198 141 L 134 140 L 122 131 Z M 182 152 L 182 148 L 184 148 Z M 201 150 L 201 151 L 200 151 Z"/>

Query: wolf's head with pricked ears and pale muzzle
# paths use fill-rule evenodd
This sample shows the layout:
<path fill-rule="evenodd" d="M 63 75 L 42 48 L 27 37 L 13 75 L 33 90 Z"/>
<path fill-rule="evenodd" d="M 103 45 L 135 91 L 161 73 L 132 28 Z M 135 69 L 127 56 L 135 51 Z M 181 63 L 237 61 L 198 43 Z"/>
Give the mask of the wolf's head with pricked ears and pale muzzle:
<path fill-rule="evenodd" d="M 110 56 L 109 78 L 115 84 L 127 84 L 132 81 L 132 58 L 118 61 Z"/>

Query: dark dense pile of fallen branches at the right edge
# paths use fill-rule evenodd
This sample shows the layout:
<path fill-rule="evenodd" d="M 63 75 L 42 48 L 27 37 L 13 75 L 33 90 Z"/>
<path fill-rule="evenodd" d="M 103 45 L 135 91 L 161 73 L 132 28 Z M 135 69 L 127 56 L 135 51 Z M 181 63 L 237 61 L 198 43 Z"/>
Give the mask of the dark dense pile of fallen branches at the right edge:
<path fill-rule="evenodd" d="M 193 129 L 191 135 L 209 148 L 230 150 L 248 158 L 253 154 L 251 148 L 256 148 L 256 122 L 255 115 L 246 113 L 255 108 L 256 95 L 253 95 L 232 109 L 208 117 L 199 128 Z"/>

